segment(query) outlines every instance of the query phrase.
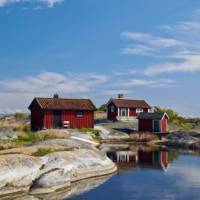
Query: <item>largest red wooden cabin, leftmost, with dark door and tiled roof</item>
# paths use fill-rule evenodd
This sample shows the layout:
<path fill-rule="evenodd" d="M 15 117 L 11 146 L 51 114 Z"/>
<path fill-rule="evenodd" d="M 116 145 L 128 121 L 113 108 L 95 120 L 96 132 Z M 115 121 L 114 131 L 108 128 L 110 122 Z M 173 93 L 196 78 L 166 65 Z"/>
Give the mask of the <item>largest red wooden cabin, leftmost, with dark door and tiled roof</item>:
<path fill-rule="evenodd" d="M 90 99 L 34 98 L 29 106 L 31 129 L 93 128 L 96 107 Z"/>

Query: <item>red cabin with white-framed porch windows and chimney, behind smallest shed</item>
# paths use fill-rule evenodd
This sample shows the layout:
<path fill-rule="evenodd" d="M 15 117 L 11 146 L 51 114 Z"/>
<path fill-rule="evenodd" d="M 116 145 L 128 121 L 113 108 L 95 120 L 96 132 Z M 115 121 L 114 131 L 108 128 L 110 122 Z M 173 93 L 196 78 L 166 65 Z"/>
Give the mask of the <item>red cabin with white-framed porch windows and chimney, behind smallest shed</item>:
<path fill-rule="evenodd" d="M 139 113 L 149 112 L 151 107 L 144 100 L 124 99 L 119 94 L 118 98 L 112 98 L 107 103 L 108 120 L 131 120 L 136 119 Z"/>

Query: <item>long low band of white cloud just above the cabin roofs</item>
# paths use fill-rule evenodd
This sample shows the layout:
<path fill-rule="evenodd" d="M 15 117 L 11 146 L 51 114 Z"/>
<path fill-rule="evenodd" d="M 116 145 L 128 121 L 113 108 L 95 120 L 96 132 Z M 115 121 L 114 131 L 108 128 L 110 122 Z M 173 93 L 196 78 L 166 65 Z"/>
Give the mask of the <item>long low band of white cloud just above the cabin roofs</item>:
<path fill-rule="evenodd" d="M 127 74 L 129 78 L 127 79 Z M 172 80 L 143 80 L 131 79 L 134 70 L 122 70 L 121 74 L 97 73 L 55 73 L 42 72 L 37 75 L 0 81 L 0 114 L 15 110 L 27 109 L 31 100 L 36 96 L 52 97 L 58 93 L 63 97 L 98 97 L 96 100 L 116 96 L 118 93 L 133 94 L 139 87 L 169 87 L 175 84 Z M 106 98 L 105 98 L 106 97 Z M 95 100 L 95 98 L 94 98 Z"/>

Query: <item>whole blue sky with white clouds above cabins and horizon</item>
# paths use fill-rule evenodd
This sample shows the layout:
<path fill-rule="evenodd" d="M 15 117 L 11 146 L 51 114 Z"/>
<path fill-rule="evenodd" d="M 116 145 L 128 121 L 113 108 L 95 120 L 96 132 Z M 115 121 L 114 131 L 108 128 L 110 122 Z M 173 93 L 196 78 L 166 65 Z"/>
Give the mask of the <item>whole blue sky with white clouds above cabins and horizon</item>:
<path fill-rule="evenodd" d="M 0 0 L 0 113 L 123 93 L 200 117 L 199 0 Z"/>

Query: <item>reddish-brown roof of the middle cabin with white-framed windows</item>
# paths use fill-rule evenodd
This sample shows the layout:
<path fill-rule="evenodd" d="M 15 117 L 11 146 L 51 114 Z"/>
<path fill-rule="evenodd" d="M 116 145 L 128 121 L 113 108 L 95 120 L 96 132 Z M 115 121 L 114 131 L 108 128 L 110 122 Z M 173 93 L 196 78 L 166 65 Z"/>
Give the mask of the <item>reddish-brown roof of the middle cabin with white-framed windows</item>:
<path fill-rule="evenodd" d="M 151 108 L 151 106 L 145 100 L 111 99 L 109 101 L 109 103 L 110 102 L 113 102 L 117 107 L 124 107 L 124 108 L 148 108 L 148 109 Z"/>

